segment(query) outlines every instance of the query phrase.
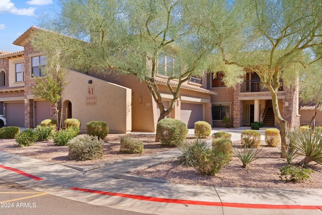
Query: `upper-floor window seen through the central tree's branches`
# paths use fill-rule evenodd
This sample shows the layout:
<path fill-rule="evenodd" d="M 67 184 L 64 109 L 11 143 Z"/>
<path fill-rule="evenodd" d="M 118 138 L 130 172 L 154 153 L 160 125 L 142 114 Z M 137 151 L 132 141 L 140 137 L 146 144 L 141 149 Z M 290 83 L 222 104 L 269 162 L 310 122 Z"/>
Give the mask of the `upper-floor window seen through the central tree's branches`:
<path fill-rule="evenodd" d="M 179 76 L 180 64 L 178 62 L 179 61 L 176 58 L 160 53 L 158 58 L 157 73 L 163 76 Z"/>

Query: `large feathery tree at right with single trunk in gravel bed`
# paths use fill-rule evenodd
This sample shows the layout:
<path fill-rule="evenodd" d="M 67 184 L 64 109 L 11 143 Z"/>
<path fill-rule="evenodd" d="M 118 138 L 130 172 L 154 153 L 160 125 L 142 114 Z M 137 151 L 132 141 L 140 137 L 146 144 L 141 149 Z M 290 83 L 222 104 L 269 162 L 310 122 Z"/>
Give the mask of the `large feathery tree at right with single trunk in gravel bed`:
<path fill-rule="evenodd" d="M 227 28 L 217 34 L 216 56 L 220 56 L 227 86 L 234 86 L 246 71 L 256 73 L 272 96 L 275 119 L 281 126 L 282 152 L 286 150 L 287 121 L 283 118 L 277 99 L 278 89 L 296 83 L 305 67 L 321 60 L 322 2 L 313 0 L 240 0 L 231 10 L 239 8 L 237 28 Z M 216 18 L 207 15 L 211 25 Z M 313 51 L 319 50 L 319 51 Z M 231 69 L 236 65 L 244 70 Z M 237 81 L 240 81 L 237 80 Z M 283 153 L 281 153 L 283 157 Z"/>

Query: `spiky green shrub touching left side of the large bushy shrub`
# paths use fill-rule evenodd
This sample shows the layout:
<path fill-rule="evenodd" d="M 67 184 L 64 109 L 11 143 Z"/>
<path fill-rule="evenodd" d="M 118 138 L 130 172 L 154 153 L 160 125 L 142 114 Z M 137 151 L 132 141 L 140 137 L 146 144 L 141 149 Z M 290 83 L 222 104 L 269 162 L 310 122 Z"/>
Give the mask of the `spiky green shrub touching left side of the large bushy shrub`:
<path fill-rule="evenodd" d="M 195 154 L 209 149 L 209 139 L 193 139 L 187 144 L 183 144 L 179 150 L 181 155 L 178 157 L 180 165 L 193 167 L 195 165 Z"/>

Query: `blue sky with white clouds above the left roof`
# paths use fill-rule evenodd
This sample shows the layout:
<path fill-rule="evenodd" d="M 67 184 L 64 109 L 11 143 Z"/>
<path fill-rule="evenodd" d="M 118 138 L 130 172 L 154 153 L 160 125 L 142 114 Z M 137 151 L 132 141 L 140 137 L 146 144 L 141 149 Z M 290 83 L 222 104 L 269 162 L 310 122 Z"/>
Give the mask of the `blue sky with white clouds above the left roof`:
<path fill-rule="evenodd" d="M 38 26 L 38 17 L 50 13 L 57 0 L 0 0 L 0 50 L 14 52 L 23 47 L 12 43 L 31 26 Z"/>

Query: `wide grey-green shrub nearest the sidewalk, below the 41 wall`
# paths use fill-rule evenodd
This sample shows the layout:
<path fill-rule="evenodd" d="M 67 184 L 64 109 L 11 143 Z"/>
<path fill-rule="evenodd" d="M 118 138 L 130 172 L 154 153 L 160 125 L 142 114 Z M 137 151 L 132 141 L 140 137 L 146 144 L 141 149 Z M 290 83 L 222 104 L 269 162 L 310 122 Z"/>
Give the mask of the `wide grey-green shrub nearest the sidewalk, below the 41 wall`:
<path fill-rule="evenodd" d="M 68 141 L 68 158 L 71 160 L 95 160 L 103 158 L 103 139 L 82 134 Z"/>

